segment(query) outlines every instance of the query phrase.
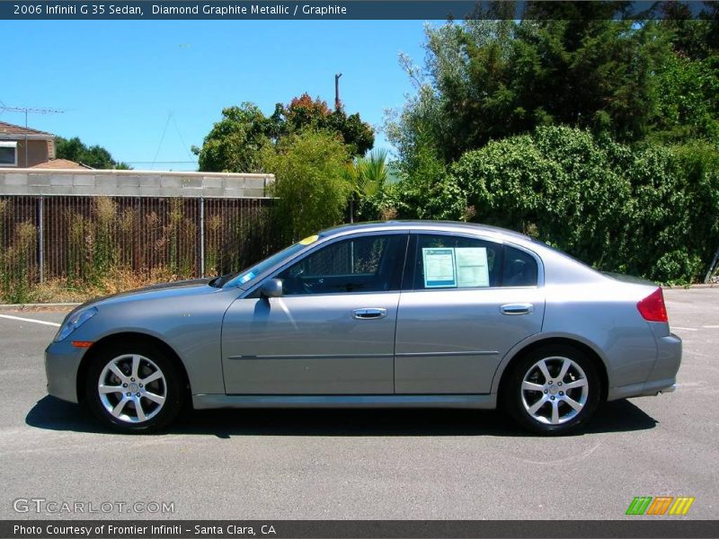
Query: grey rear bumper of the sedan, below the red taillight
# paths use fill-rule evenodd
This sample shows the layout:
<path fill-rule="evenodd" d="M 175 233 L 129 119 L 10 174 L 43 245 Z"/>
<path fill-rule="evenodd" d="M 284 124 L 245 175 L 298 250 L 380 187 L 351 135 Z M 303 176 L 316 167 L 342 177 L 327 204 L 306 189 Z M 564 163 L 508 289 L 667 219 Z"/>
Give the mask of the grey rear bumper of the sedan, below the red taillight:
<path fill-rule="evenodd" d="M 665 337 L 657 337 L 656 341 L 657 360 L 646 381 L 641 384 L 610 388 L 607 395 L 608 401 L 676 391 L 677 372 L 679 372 L 679 365 L 681 364 L 681 339 L 671 333 Z"/>

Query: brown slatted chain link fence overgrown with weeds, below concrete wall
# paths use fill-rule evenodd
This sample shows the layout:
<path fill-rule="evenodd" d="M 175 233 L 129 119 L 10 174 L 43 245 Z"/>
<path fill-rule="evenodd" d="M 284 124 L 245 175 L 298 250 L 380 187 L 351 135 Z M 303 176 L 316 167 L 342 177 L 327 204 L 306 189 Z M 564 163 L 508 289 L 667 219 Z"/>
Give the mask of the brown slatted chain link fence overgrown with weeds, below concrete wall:
<path fill-rule="evenodd" d="M 0 295 L 113 270 L 196 278 L 241 270 L 280 247 L 271 199 L 0 196 Z"/>

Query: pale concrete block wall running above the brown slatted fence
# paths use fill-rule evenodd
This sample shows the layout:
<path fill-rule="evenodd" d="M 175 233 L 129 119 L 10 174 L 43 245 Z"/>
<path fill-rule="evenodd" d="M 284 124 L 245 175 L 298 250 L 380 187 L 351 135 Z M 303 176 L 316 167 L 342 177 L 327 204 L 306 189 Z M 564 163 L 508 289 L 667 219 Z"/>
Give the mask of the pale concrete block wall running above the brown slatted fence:
<path fill-rule="evenodd" d="M 272 174 L 0 169 L 0 195 L 269 198 Z"/>

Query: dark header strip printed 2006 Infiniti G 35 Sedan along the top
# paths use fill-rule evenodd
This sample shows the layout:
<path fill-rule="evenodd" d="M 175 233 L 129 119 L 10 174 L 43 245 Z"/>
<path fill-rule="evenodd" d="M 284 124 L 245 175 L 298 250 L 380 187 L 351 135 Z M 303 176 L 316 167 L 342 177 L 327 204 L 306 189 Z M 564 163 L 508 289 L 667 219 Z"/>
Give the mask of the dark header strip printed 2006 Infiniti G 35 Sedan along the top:
<path fill-rule="evenodd" d="M 648 20 L 715 18 L 717 13 L 715 0 L 0 1 L 4 20 Z"/>

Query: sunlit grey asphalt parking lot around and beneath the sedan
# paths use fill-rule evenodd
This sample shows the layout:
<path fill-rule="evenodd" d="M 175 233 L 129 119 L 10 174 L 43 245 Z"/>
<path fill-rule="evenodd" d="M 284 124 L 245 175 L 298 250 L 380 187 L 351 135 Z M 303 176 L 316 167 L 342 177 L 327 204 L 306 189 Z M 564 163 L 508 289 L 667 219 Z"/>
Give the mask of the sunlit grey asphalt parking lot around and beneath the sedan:
<path fill-rule="evenodd" d="M 116 435 L 45 393 L 57 328 L 0 317 L 0 518 L 615 519 L 661 495 L 696 498 L 679 518 L 715 518 L 719 287 L 665 297 L 684 340 L 678 391 L 608 403 L 562 438 L 494 411 L 198 411 L 161 435 Z M 16 499 L 113 509 L 18 513 Z"/>

